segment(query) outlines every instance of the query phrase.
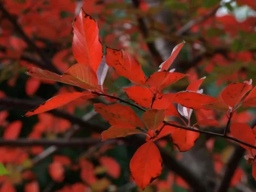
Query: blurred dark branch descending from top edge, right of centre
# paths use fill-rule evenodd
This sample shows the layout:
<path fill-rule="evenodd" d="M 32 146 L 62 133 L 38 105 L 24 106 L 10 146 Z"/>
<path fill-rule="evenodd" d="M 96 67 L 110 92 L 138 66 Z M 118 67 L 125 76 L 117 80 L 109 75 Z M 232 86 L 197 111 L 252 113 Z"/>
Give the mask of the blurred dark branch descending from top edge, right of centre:
<path fill-rule="evenodd" d="M 133 7 L 139 9 L 140 0 L 132 0 L 132 4 L 133 4 Z M 137 21 L 138 21 L 138 25 L 139 25 L 139 28 L 140 28 L 143 38 L 145 38 L 145 39 L 148 38 L 149 33 L 148 33 L 148 28 L 147 28 L 145 21 L 140 16 L 138 16 Z M 154 42 L 147 42 L 147 45 L 148 45 L 148 49 L 149 49 L 151 55 L 153 55 L 153 58 L 156 60 L 158 65 L 161 65 L 161 63 L 163 62 L 163 59 L 162 59 L 160 53 L 157 51 Z"/>

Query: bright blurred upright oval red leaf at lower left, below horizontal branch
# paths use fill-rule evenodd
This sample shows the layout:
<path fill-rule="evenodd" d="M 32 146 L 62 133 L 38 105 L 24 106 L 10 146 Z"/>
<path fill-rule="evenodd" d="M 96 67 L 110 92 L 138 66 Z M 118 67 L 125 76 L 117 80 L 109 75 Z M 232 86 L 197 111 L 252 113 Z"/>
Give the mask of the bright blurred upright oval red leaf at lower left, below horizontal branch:
<path fill-rule="evenodd" d="M 56 182 L 62 182 L 65 179 L 65 170 L 61 163 L 52 162 L 49 166 L 49 174 L 52 180 Z"/>

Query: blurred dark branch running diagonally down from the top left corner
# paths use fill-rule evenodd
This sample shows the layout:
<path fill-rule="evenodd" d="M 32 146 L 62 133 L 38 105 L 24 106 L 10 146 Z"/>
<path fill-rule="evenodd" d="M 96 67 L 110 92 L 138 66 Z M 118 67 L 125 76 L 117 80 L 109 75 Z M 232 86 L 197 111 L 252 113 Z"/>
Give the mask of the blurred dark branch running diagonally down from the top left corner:
<path fill-rule="evenodd" d="M 41 50 L 36 44 L 26 35 L 19 23 L 12 17 L 12 15 L 4 8 L 2 2 L 0 2 L 0 11 L 3 13 L 3 17 L 8 19 L 15 31 L 21 36 L 21 38 L 28 44 L 31 50 L 35 51 L 41 59 L 44 61 L 44 65 L 47 66 L 54 73 L 60 73 L 60 71 L 52 65 L 51 59 Z"/>

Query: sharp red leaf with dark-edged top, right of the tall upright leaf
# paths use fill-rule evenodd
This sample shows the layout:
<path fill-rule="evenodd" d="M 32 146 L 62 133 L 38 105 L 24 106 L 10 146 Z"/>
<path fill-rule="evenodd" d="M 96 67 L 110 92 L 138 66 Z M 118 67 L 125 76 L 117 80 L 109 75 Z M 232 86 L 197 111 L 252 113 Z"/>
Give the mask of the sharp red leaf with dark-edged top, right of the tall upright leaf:
<path fill-rule="evenodd" d="M 126 77 L 132 82 L 145 84 L 146 77 L 140 63 L 124 50 L 113 50 L 107 47 L 106 62 L 113 67 L 118 75 Z"/>

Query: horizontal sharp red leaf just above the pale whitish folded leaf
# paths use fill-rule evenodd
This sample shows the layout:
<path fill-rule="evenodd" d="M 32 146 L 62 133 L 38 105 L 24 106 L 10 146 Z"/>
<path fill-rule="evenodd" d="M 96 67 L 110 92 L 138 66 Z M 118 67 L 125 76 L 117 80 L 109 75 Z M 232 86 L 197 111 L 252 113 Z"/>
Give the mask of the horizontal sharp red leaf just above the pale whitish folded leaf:
<path fill-rule="evenodd" d="M 180 105 L 187 108 L 194 109 L 194 110 L 198 110 L 198 109 L 209 110 L 209 108 L 206 108 L 203 105 L 212 103 L 214 101 L 217 101 L 217 99 L 209 95 L 190 92 L 190 91 L 181 91 L 176 93 L 176 96 L 173 100 L 173 102 L 180 103 Z"/>

